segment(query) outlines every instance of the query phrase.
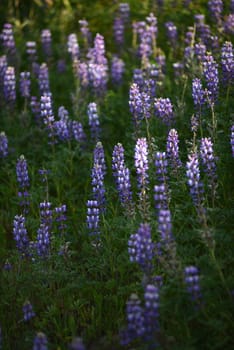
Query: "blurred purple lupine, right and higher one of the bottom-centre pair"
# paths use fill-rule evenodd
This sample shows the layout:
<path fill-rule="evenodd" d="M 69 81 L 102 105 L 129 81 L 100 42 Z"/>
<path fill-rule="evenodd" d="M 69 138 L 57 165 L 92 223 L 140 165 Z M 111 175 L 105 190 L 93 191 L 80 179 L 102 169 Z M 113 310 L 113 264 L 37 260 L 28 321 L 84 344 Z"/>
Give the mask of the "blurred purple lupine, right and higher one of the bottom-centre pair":
<path fill-rule="evenodd" d="M 152 339 L 159 330 L 159 288 L 147 284 L 144 292 L 144 324 L 146 339 Z"/>

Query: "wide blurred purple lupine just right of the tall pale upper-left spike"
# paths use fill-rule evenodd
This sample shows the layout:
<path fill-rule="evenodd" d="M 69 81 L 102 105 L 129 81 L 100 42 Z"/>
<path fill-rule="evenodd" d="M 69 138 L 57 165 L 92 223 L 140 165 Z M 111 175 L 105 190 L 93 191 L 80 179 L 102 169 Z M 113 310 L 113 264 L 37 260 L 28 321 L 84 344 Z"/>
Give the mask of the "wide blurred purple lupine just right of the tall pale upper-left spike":
<path fill-rule="evenodd" d="M 54 122 L 55 133 L 61 141 L 67 141 L 71 137 L 68 111 L 63 107 L 58 110 L 59 120 Z"/>

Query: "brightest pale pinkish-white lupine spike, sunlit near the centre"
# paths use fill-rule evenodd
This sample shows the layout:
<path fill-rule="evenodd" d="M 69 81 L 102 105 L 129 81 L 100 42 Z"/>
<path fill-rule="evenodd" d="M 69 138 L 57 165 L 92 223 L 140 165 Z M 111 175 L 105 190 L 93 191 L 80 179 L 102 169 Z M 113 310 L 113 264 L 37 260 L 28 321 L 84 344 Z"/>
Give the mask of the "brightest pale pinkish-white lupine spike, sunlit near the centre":
<path fill-rule="evenodd" d="M 148 144 L 145 137 L 139 138 L 135 146 L 135 167 L 137 173 L 138 188 L 140 189 L 140 199 L 144 196 L 148 180 Z"/>

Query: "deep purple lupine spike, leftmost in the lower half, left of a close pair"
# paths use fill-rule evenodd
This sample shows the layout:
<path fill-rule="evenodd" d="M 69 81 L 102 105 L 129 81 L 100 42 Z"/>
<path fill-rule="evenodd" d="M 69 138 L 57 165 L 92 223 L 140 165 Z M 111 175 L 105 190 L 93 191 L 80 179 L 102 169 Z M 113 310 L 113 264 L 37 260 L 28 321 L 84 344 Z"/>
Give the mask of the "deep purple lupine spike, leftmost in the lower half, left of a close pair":
<path fill-rule="evenodd" d="M 23 215 L 16 215 L 13 222 L 13 236 L 16 241 L 18 251 L 24 255 L 28 253 L 29 238 L 25 227 L 25 217 Z"/>

